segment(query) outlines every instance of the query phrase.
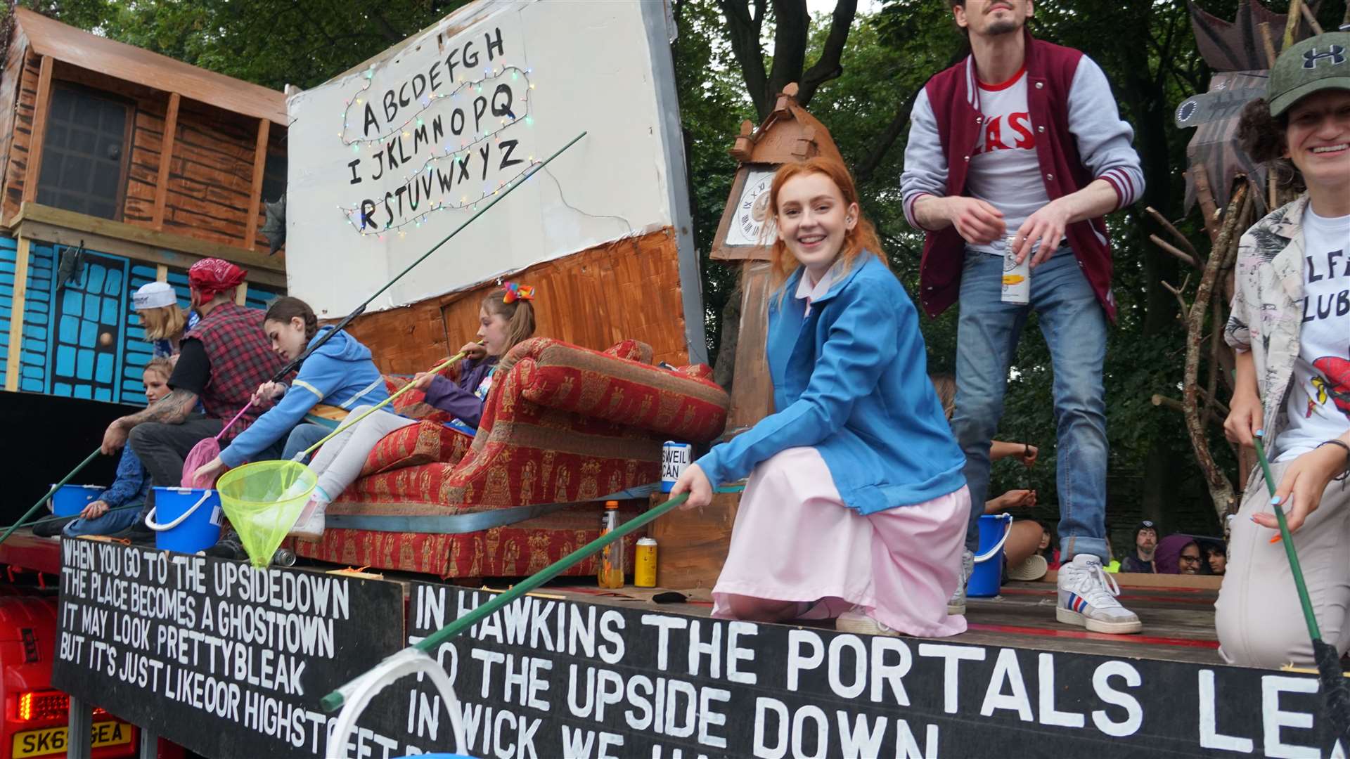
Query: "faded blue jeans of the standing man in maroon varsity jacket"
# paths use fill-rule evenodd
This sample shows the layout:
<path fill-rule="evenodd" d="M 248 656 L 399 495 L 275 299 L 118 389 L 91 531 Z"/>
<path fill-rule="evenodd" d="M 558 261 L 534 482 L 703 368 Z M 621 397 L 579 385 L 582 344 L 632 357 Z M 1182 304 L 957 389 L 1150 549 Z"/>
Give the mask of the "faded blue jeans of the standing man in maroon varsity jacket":
<path fill-rule="evenodd" d="M 1003 416 L 1008 362 L 1027 315 L 1035 309 L 1054 369 L 1060 555 L 1068 562 L 1077 554 L 1095 554 L 1106 563 L 1106 312 L 1068 247 L 1031 270 L 1030 305 L 1003 303 L 1002 277 L 1000 257 L 965 253 L 952 417 L 971 488 L 965 544 L 975 551 L 980 542 L 979 519 L 990 490 L 990 442 Z"/>

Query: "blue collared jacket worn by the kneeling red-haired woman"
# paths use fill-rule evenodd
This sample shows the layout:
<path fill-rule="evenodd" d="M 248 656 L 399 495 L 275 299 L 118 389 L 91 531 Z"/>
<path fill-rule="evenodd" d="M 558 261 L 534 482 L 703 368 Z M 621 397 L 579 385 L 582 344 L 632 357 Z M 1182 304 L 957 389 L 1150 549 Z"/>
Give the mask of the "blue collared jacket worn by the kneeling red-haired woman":
<path fill-rule="evenodd" d="M 965 458 L 929 382 L 905 288 L 864 253 L 803 316 L 802 273 L 783 285 L 787 297 L 770 297 L 765 352 L 779 411 L 695 463 L 716 486 L 814 446 L 844 502 L 864 515 L 960 490 Z"/>

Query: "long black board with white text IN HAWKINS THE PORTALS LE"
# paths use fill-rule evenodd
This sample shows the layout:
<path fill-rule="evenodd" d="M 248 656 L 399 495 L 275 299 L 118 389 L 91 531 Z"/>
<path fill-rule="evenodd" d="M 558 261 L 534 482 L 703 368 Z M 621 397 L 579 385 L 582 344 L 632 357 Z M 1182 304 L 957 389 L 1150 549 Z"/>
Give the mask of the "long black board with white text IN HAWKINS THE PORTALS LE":
<path fill-rule="evenodd" d="M 414 583 L 409 640 L 490 596 Z M 501 758 L 1343 756 L 1314 675 L 872 637 L 525 597 L 441 644 Z M 429 682 L 375 732 L 455 748 Z M 396 754 L 397 755 L 397 754 Z"/>

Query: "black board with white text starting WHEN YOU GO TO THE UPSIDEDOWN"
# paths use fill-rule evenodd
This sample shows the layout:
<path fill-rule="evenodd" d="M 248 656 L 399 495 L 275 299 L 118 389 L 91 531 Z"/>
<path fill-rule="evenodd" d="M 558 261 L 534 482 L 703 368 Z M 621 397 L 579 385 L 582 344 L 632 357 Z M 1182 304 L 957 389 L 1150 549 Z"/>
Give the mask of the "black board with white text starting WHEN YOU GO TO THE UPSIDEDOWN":
<path fill-rule="evenodd" d="M 404 637 L 394 582 L 81 539 L 61 552 L 53 686 L 205 756 L 336 755 L 319 700 Z"/>

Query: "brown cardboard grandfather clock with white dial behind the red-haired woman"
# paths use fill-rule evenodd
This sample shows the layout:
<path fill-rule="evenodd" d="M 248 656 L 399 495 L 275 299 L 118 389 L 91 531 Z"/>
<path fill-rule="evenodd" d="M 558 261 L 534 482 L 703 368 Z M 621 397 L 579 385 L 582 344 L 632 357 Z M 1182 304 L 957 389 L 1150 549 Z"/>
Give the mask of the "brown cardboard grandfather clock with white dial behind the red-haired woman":
<path fill-rule="evenodd" d="M 829 130 L 796 103 L 796 84 L 778 95 L 759 127 L 741 123 L 730 150 L 738 161 L 730 197 L 713 238 L 711 258 L 740 273 L 740 320 L 722 325 L 722 346 L 734 343 L 732 409 L 726 436 L 753 425 L 774 411 L 764 342 L 768 331 L 770 247 L 776 239 L 768 190 L 783 163 L 824 155 L 840 163 Z M 728 340 L 729 335 L 732 340 Z M 656 497 L 664 501 L 664 496 Z M 660 544 L 656 581 L 663 587 L 711 589 L 726 560 L 740 493 L 718 493 L 702 512 L 675 512 L 652 525 Z"/>

